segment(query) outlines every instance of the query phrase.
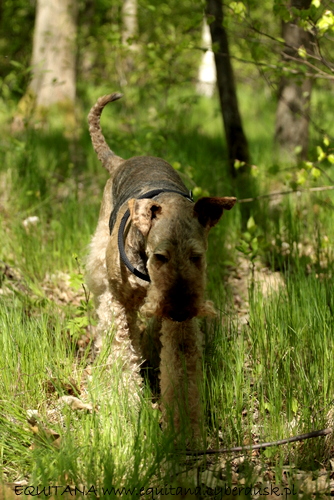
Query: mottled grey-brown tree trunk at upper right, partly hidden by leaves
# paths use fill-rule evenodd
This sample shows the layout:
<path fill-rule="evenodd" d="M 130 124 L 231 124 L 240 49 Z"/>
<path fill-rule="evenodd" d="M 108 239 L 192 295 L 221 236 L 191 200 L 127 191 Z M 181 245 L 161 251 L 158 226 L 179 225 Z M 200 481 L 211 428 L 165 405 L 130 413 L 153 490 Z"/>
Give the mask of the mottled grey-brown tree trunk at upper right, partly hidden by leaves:
<path fill-rule="evenodd" d="M 291 7 L 308 9 L 311 0 L 291 0 Z M 300 58 L 298 49 L 304 47 L 312 52 L 312 35 L 297 25 L 297 19 L 282 26 L 285 48 L 283 60 Z M 283 76 L 279 88 L 276 111 L 275 142 L 282 158 L 305 159 L 308 151 L 309 113 L 312 79 L 296 76 Z"/>

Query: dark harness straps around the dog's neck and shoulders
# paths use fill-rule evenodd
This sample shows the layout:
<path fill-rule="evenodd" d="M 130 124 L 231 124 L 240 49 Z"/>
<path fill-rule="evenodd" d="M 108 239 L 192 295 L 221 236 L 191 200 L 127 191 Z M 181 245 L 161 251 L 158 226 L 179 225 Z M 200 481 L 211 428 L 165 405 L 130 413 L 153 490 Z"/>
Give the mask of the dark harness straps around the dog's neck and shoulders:
<path fill-rule="evenodd" d="M 176 191 L 175 189 L 154 189 L 154 190 L 149 191 L 148 193 L 142 194 L 141 196 L 138 196 L 136 198 L 137 198 L 137 200 L 142 200 L 143 198 L 150 198 L 151 199 L 151 198 L 155 198 L 156 196 L 158 196 L 158 194 L 161 194 L 161 193 L 180 194 L 181 196 L 184 196 L 184 198 L 187 198 L 187 200 L 191 201 L 192 203 L 194 202 L 191 191 L 189 191 L 189 193 L 182 193 L 181 191 Z M 118 249 L 119 249 L 120 257 L 122 259 L 122 262 L 124 262 L 126 267 L 132 272 L 132 274 L 134 274 L 135 276 L 137 276 L 138 278 L 140 278 L 144 281 L 150 282 L 151 279 L 150 279 L 149 275 L 138 271 L 138 269 L 136 269 L 131 264 L 131 262 L 129 261 L 129 259 L 125 253 L 124 229 L 125 229 L 125 226 L 126 226 L 126 223 L 128 221 L 129 216 L 130 216 L 130 210 L 127 209 L 127 211 L 125 212 L 125 214 L 122 217 L 122 220 L 121 220 L 121 223 L 119 226 L 119 230 L 118 230 Z M 115 214 L 113 214 L 113 212 L 111 212 L 110 219 L 109 219 L 110 234 L 111 234 L 112 228 L 113 228 L 113 220 L 112 219 L 114 219 L 114 217 L 115 217 Z"/>

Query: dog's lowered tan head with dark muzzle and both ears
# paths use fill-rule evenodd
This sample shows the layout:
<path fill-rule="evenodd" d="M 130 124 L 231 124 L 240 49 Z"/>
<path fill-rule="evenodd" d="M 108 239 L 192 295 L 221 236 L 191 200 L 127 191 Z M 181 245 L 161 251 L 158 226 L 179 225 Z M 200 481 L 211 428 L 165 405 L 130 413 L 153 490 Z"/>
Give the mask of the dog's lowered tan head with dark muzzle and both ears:
<path fill-rule="evenodd" d="M 145 238 L 151 278 L 142 312 L 185 321 L 213 312 L 204 300 L 207 236 L 236 198 L 201 198 L 195 204 L 174 194 L 129 201 L 132 224 Z"/>

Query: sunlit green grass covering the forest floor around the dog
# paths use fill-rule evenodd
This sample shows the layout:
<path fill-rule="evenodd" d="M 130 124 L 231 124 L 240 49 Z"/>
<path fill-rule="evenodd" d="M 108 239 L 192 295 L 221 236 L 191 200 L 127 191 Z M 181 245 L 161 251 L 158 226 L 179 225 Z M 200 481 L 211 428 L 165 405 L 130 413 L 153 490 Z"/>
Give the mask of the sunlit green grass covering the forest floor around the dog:
<path fill-rule="evenodd" d="M 97 95 L 94 91 L 94 99 Z M 260 113 L 247 102 L 252 97 L 245 94 L 245 128 L 261 169 L 254 189 L 263 193 L 282 182 L 280 174 L 266 172 L 274 106 L 266 106 L 264 99 Z M 117 154 L 164 156 L 179 163 L 189 188 L 234 194 L 217 104 L 200 99 L 185 117 L 185 108 L 172 102 L 176 118 L 168 122 L 173 123 L 168 133 L 168 116 L 155 121 L 154 110 L 151 117 L 147 114 L 150 103 L 137 106 L 130 96 L 103 116 L 105 135 Z M 171 431 L 161 431 L 160 412 L 152 408 L 148 387 L 137 406 L 131 404 L 129 395 L 117 389 L 117 367 L 105 366 L 108 346 L 93 366 L 89 349 L 79 349 L 95 322 L 81 282 L 107 177 L 85 127 L 82 122 L 76 140 L 67 139 L 59 124 L 2 137 L 0 477 L 86 488 L 194 486 L 194 462 L 175 451 Z M 235 247 L 247 238 L 240 207 L 225 213 L 212 230 L 208 293 L 219 316 L 202 325 L 205 445 L 270 441 L 328 425 L 334 399 L 332 207 L 330 192 L 249 206 L 259 241 L 255 262 L 278 271 L 282 282 L 269 294 L 250 280 L 246 325 L 238 319 L 227 283 L 242 256 Z M 30 216 L 38 217 L 36 225 L 24 227 Z M 243 258 L 247 263 L 249 257 Z M 250 260 L 248 264 L 252 266 Z M 73 410 L 62 403 L 60 398 L 69 394 L 79 395 L 91 409 Z M 38 412 L 38 432 L 27 421 L 30 410 Z M 287 464 L 304 470 L 327 467 L 329 449 L 323 438 L 271 448 L 255 458 L 248 455 L 239 475 L 251 484 L 259 464 L 263 477 L 269 468 L 280 477 Z M 204 470 L 221 469 L 211 459 L 196 463 Z M 227 460 L 227 482 L 232 468 Z"/>

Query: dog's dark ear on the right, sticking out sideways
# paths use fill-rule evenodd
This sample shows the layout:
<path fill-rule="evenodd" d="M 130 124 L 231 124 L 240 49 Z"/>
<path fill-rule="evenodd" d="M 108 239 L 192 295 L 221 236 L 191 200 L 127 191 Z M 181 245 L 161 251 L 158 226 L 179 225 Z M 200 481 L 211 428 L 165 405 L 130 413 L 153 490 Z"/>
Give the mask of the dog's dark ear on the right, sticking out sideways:
<path fill-rule="evenodd" d="M 224 198 L 200 198 L 194 206 L 194 216 L 207 229 L 215 226 L 224 210 L 231 210 L 237 199 L 230 196 Z"/>

